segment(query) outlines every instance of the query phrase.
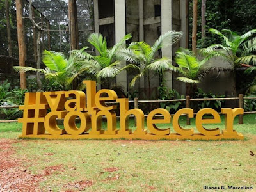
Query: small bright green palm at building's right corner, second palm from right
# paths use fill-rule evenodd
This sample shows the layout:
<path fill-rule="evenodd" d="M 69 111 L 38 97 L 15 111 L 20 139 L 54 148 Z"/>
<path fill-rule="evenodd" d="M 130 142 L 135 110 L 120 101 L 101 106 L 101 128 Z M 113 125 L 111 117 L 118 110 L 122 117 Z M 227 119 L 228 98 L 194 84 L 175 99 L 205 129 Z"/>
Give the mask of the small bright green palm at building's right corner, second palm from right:
<path fill-rule="evenodd" d="M 193 95 L 197 90 L 197 84 L 204 79 L 205 75 L 209 72 L 209 68 L 205 67 L 205 63 L 212 58 L 207 56 L 203 60 L 198 60 L 192 51 L 189 49 L 179 49 L 176 52 L 175 62 L 179 66 L 181 77 L 177 80 L 189 84 L 187 94 Z"/>

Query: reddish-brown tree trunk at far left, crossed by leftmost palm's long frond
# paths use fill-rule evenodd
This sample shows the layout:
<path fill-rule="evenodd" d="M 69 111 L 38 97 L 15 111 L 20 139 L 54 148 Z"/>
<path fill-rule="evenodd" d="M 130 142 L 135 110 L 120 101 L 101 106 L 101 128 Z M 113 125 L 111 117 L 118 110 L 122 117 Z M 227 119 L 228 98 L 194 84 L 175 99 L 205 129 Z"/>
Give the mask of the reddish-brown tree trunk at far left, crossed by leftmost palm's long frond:
<path fill-rule="evenodd" d="M 19 46 L 19 65 L 25 66 L 26 58 L 26 44 L 24 38 L 24 25 L 22 14 L 23 6 L 22 0 L 16 0 L 16 17 L 17 17 L 17 36 L 18 36 L 18 46 Z M 20 74 L 20 88 L 22 90 L 26 89 L 26 74 Z"/>

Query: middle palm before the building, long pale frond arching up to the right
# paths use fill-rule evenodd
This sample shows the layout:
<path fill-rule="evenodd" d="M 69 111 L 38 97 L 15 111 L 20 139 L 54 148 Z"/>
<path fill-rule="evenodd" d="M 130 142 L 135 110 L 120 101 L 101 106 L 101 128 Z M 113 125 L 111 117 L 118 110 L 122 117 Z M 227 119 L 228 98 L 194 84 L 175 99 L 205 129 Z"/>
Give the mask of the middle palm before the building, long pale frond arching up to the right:
<path fill-rule="evenodd" d="M 150 81 L 156 75 L 152 76 L 150 72 L 163 72 L 167 70 L 173 70 L 175 72 L 179 71 L 179 68 L 172 65 L 172 58 L 155 58 L 156 52 L 169 45 L 176 44 L 182 37 L 182 32 L 168 31 L 163 35 L 159 36 L 154 45 L 150 46 L 146 42 L 132 42 L 128 48 L 123 48 L 118 51 L 118 58 L 128 61 L 129 64 L 127 68 L 133 67 L 138 70 L 138 75 L 136 75 L 131 83 L 130 87 L 133 87 L 138 79 L 141 77 L 147 77 L 148 79 L 148 89 L 150 97 Z"/>

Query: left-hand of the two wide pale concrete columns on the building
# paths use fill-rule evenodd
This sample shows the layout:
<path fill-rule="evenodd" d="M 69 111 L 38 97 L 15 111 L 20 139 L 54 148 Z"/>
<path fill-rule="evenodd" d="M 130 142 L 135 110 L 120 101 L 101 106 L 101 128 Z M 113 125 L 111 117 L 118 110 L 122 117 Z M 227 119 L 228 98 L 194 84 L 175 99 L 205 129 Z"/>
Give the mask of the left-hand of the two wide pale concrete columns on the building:
<path fill-rule="evenodd" d="M 115 0 L 115 42 L 119 42 L 125 36 L 125 20 L 125 0 Z M 125 65 L 126 62 L 122 61 L 122 67 Z M 116 84 L 123 86 L 124 91 L 127 92 L 127 72 L 125 70 L 116 77 Z"/>

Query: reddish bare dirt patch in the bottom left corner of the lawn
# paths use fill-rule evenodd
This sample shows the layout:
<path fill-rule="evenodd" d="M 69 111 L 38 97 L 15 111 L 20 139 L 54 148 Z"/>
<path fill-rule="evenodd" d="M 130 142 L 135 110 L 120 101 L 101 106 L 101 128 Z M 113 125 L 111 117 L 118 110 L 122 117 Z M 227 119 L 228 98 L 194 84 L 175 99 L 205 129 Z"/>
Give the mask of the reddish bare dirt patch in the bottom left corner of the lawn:
<path fill-rule="evenodd" d="M 42 182 L 45 176 L 60 170 L 62 166 L 47 167 L 40 175 L 29 173 L 22 164 L 24 159 L 13 156 L 15 147 L 12 144 L 18 142 L 17 140 L 0 140 L 0 191 L 41 191 L 38 188 L 39 182 Z"/>

